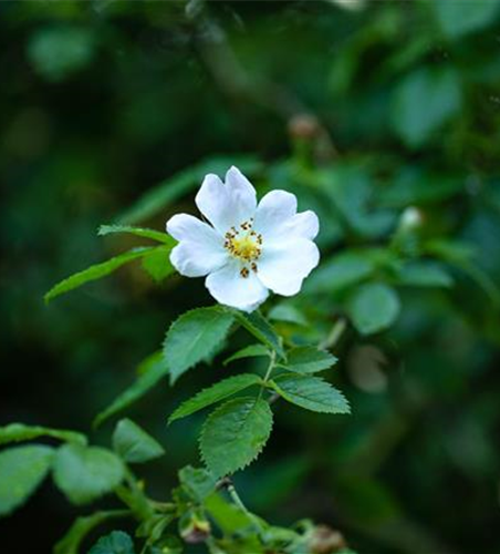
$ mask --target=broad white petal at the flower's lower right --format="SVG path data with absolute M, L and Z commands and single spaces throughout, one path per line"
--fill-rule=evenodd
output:
M 277 246 L 265 245 L 258 261 L 259 279 L 273 293 L 293 296 L 302 281 L 317 266 L 317 246 L 304 238 L 296 238 Z

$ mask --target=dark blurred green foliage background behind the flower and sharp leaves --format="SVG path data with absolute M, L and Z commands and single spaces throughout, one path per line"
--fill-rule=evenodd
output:
M 346 318 L 329 378 L 353 407 L 278 408 L 236 476 L 248 505 L 361 554 L 499 554 L 500 2 L 2 0 L 0 25 L 0 424 L 88 431 L 170 321 L 210 304 L 202 280 L 139 265 L 42 297 L 137 244 L 100 224 L 163 229 L 235 163 L 320 213 L 323 266 L 275 319 L 306 335 Z M 353 326 L 373 279 L 392 309 Z M 201 419 L 166 417 L 228 371 L 128 410 L 167 450 L 146 468 L 154 496 L 199 463 Z M 0 522 L 2 552 L 49 553 L 76 513 L 46 483 Z

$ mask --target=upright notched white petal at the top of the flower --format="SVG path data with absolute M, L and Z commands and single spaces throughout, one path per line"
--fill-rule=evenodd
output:
M 213 174 L 205 177 L 196 195 L 196 205 L 223 235 L 232 226 L 238 227 L 253 217 L 256 189 L 239 170 L 231 167 L 226 174 L 226 184 Z

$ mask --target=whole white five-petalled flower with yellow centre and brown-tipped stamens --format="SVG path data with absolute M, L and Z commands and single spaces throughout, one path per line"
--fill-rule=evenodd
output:
M 196 205 L 211 225 L 187 214 L 171 217 L 167 232 L 179 244 L 170 261 L 186 277 L 207 276 L 220 304 L 253 311 L 269 290 L 296 295 L 320 260 L 314 212 L 298 214 L 296 197 L 285 191 L 271 191 L 257 205 L 256 189 L 237 167 L 226 183 L 207 175 Z

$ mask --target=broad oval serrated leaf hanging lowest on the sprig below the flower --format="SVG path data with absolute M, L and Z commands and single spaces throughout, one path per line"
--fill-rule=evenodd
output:
M 216 478 L 251 463 L 271 434 L 272 412 L 261 398 L 229 400 L 205 422 L 201 456 Z

